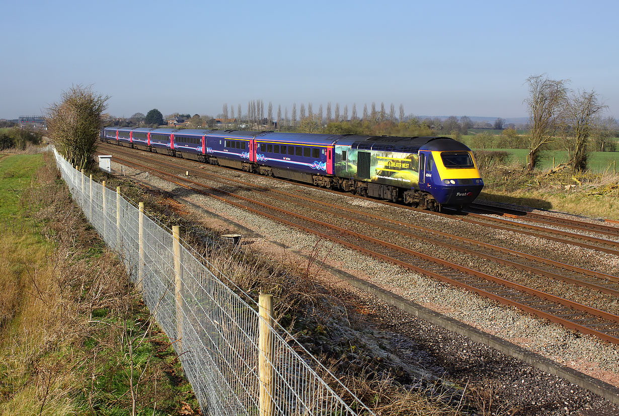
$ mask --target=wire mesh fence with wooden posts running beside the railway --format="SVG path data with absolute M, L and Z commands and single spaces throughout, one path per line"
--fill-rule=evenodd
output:
M 167 232 L 145 215 L 142 204 L 134 206 L 54 153 L 74 200 L 118 253 L 159 326 L 176 341 L 203 414 L 373 415 L 326 368 L 297 353 L 303 347 L 272 320 L 268 295 L 258 304 L 232 290 L 232 282 L 181 244 L 177 227 Z M 347 400 L 318 373 L 332 378 Z

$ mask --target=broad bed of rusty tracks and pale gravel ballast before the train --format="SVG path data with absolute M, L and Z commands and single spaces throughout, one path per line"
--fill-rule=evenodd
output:
M 619 385 L 617 345 L 600 341 L 619 340 L 616 223 L 600 232 L 599 222 L 586 219 L 574 226 L 495 213 L 435 214 L 115 145 L 100 149 L 125 163 L 134 179 L 180 192 L 270 240 L 313 251 L 319 261 Z

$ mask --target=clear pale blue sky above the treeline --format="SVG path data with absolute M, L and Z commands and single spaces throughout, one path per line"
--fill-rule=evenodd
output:
M 524 80 L 595 89 L 618 115 L 616 1 L 2 1 L 0 118 L 72 84 L 116 116 L 264 100 L 526 116 Z

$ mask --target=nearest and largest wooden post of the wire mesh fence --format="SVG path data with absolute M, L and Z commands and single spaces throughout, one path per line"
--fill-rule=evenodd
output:
M 258 299 L 260 321 L 258 324 L 258 375 L 260 378 L 259 416 L 274 415 L 273 380 L 273 295 L 261 294 Z

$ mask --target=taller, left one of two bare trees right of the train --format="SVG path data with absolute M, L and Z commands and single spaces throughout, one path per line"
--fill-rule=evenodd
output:
M 529 107 L 531 126 L 529 155 L 527 156 L 529 171 L 535 169 L 542 146 L 552 141 L 552 137 L 560 127 L 560 116 L 565 108 L 568 82 L 569 80 L 565 79 L 548 79 L 546 74 L 530 76 L 526 80 L 529 86 L 529 97 L 524 102 Z

